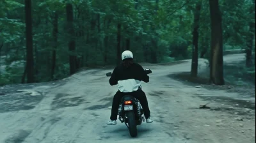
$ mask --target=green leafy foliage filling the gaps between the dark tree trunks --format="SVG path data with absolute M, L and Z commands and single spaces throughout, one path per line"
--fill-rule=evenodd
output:
M 56 45 L 54 80 L 67 77 L 69 56 L 76 56 L 81 67 L 116 63 L 117 24 L 122 25 L 121 49 L 125 39 L 138 62 L 166 63 L 191 57 L 193 13 L 197 1 L 84 1 L 35 0 L 33 7 L 33 46 L 36 80 L 51 80 L 52 50 Z M 70 35 L 67 34 L 66 4 L 74 10 L 76 51 L 68 51 Z M 252 1 L 220 1 L 223 13 L 223 36 L 226 49 L 244 47 L 250 33 L 249 23 L 254 19 Z M 58 41 L 54 41 L 54 15 L 58 15 Z M 255 15 L 255 13 L 254 13 Z M 20 82 L 24 64 L 10 66 L 14 61 L 26 59 L 24 1 L 2 0 L 0 4 L 0 56 L 7 56 L 6 73 L 1 83 Z M 211 45 L 209 3 L 202 1 L 200 10 L 199 52 Z

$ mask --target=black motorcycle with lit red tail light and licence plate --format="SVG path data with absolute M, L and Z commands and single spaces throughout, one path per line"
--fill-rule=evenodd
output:
M 147 74 L 152 73 L 150 69 L 145 69 Z M 106 73 L 107 77 L 111 77 L 112 73 Z M 119 105 L 118 116 L 121 123 L 125 123 L 131 137 L 138 135 L 137 125 L 145 122 L 145 116 L 140 101 L 133 96 L 126 94 Z

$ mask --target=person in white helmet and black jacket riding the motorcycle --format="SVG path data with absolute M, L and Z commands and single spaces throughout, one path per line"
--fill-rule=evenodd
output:
M 108 125 L 116 124 L 119 103 L 125 93 L 129 93 L 131 96 L 134 96 L 134 98 L 140 100 L 146 117 L 146 122 L 153 122 L 153 120 L 150 119 L 150 110 L 148 108 L 146 94 L 141 89 L 141 80 L 146 83 L 149 82 L 147 73 L 140 64 L 133 62 L 132 52 L 125 50 L 122 53 L 122 64 L 116 66 L 109 79 L 109 84 L 111 86 L 118 84 L 119 90 L 113 98 L 110 121 L 107 123 Z

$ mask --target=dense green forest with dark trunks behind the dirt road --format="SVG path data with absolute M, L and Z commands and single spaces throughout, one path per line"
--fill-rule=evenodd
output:
M 209 60 L 210 81 L 225 84 L 223 51 L 244 49 L 255 76 L 254 0 L 1 0 L 0 86 L 48 82 L 81 68 Z

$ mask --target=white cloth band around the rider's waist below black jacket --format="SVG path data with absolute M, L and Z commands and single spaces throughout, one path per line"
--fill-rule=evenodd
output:
M 133 91 L 137 91 L 140 86 L 141 86 L 140 80 L 126 79 L 126 80 L 118 81 L 118 89 L 122 93 L 131 93 Z

